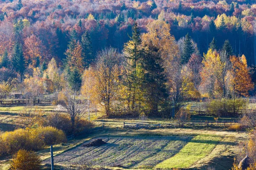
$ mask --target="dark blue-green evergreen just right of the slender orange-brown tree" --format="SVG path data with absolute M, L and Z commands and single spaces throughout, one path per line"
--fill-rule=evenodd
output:
M 84 59 L 85 67 L 89 67 L 89 64 L 93 61 L 93 47 L 88 32 L 85 32 L 81 37 L 82 57 Z

